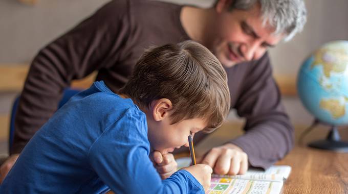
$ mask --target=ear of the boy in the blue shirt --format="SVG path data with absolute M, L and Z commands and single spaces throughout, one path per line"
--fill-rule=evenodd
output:
M 172 104 L 169 99 L 159 99 L 154 102 L 152 108 L 152 114 L 154 120 L 161 121 L 165 117 L 169 116 L 169 112 L 172 109 Z

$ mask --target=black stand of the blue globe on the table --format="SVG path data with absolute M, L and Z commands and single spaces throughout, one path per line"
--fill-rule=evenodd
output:
M 318 124 L 313 123 L 312 128 Z M 311 148 L 330 150 L 334 152 L 348 152 L 348 142 L 340 141 L 340 136 L 336 126 L 332 126 L 326 139 L 313 141 L 308 144 Z

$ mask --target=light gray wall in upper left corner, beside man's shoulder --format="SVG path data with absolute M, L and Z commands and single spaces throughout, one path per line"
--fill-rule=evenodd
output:
M 43 47 L 108 0 L 0 1 L 0 64 L 29 62 Z

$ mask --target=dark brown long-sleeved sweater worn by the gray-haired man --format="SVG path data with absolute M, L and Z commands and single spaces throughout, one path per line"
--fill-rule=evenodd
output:
M 98 70 L 97 80 L 115 91 L 145 48 L 189 39 L 181 26 L 181 8 L 155 1 L 112 1 L 42 48 L 21 93 L 11 153 L 20 153 L 56 111 L 62 90 L 73 79 Z M 269 57 L 266 53 L 226 71 L 231 108 L 247 120 L 246 133 L 231 142 L 248 154 L 251 165 L 268 167 L 293 146 L 293 128 L 280 103 Z

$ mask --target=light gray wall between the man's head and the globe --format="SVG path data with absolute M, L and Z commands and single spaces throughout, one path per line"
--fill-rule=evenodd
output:
M 325 42 L 348 40 L 348 1 L 307 0 L 305 29 L 270 51 L 274 72 L 296 75 L 302 61 Z

